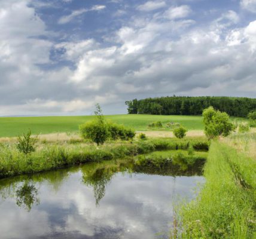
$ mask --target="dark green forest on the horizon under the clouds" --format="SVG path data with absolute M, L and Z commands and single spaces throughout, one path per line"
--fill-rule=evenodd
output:
M 226 96 L 167 96 L 126 101 L 128 114 L 201 115 L 203 109 L 213 106 L 234 117 L 247 117 L 256 109 L 256 99 Z

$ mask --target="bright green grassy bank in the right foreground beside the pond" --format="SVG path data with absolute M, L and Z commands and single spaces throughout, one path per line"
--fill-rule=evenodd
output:
M 223 142 L 212 142 L 205 164 L 206 183 L 196 200 L 178 211 L 179 237 L 255 238 L 255 175 L 254 158 Z M 176 229 L 173 238 L 178 237 Z

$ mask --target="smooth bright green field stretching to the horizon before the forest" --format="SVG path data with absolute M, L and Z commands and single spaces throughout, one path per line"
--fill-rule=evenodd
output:
M 93 119 L 94 116 L 69 116 L 69 117 L 2 117 L 0 118 L 0 137 L 17 136 L 29 128 L 33 134 L 47 134 L 57 132 L 74 132 L 78 125 Z M 202 117 L 182 115 L 106 115 L 118 124 L 124 124 L 135 130 L 152 130 L 148 124 L 161 121 L 179 122 L 188 130 L 202 130 Z

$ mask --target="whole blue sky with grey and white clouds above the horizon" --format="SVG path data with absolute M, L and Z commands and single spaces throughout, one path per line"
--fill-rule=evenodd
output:
M 256 0 L 0 0 L 0 115 L 256 97 Z

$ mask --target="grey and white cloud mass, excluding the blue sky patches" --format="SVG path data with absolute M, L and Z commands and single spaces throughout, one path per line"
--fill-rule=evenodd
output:
M 256 21 L 238 28 L 227 11 L 198 27 L 188 5 L 153 2 L 157 13 L 138 11 L 106 47 L 42 39 L 54 33 L 29 0 L 0 1 L 0 114 L 90 114 L 96 102 L 123 113 L 126 100 L 167 94 L 255 97 Z M 54 65 L 53 50 L 72 67 L 42 67 Z

